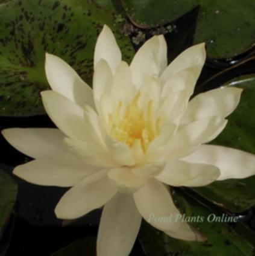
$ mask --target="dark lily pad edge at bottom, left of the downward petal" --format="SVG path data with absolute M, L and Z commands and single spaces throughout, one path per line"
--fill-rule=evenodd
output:
M 96 255 L 96 237 L 84 237 L 80 240 L 71 243 L 52 256 L 75 256 L 75 255 Z

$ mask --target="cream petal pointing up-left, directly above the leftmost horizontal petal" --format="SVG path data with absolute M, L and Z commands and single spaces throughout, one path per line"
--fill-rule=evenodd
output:
M 43 105 L 51 120 L 67 136 L 86 140 L 83 109 L 54 91 L 41 92 Z

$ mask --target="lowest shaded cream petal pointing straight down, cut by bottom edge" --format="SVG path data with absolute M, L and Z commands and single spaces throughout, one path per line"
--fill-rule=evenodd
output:
M 141 220 L 133 197 L 117 193 L 102 210 L 96 246 L 97 255 L 129 255 L 140 229 Z

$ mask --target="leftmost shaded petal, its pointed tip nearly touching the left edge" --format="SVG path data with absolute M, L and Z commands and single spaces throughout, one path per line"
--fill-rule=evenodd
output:
M 66 152 L 64 134 L 51 128 L 11 128 L 2 130 L 4 138 L 15 149 L 31 158 L 42 158 Z

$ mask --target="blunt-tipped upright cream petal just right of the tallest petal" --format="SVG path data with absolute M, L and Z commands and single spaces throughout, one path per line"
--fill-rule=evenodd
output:
M 164 37 L 154 36 L 147 40 L 134 56 L 130 68 L 133 83 L 136 88 L 142 85 L 145 77 L 149 75 L 160 75 L 165 69 L 166 42 Z

